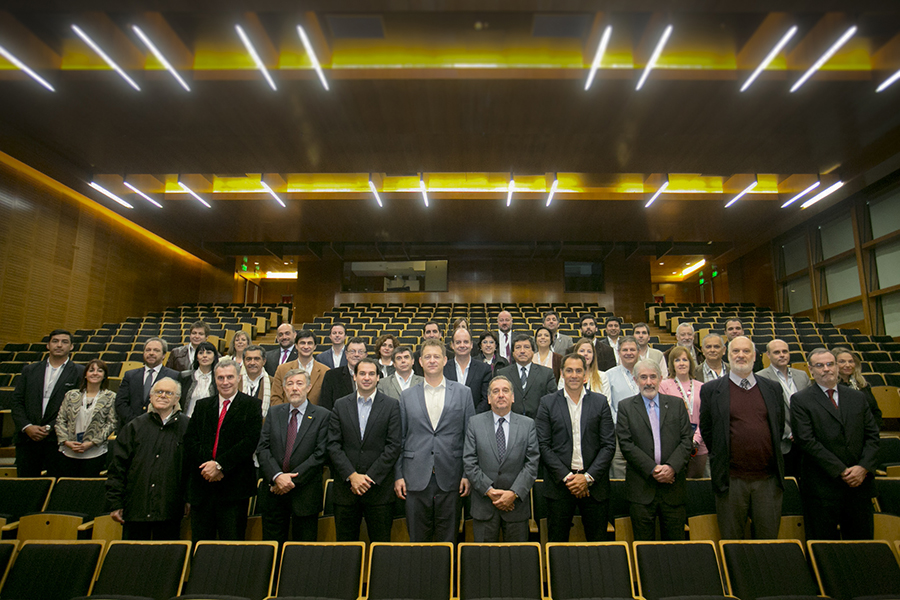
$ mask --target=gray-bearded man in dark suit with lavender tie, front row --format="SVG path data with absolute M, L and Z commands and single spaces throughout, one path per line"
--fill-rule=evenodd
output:
M 638 361 L 634 373 L 641 393 L 619 403 L 616 421 L 634 539 L 656 539 L 658 517 L 663 540 L 683 540 L 691 421 L 681 398 L 659 393 L 659 363 Z

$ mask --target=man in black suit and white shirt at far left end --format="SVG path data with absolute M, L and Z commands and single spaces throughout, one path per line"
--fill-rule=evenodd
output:
M 59 444 L 56 441 L 56 415 L 63 396 L 78 389 L 84 367 L 69 360 L 72 334 L 54 329 L 47 340 L 46 359 L 27 365 L 16 379 L 12 409 L 16 431 L 16 473 L 19 477 L 40 477 L 47 471 L 57 475 Z

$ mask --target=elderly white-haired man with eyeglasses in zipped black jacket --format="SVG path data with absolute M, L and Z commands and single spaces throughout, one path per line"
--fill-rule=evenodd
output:
M 181 413 L 181 384 L 153 384 L 147 412 L 119 431 L 106 479 L 110 516 L 125 540 L 177 540 L 185 514 L 182 439 L 189 418 Z

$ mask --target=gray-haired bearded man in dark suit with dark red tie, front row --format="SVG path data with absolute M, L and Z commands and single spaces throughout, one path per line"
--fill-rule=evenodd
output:
M 287 541 L 292 524 L 294 541 L 314 542 L 318 536 L 331 413 L 307 400 L 309 388 L 306 371 L 285 374 L 287 402 L 269 409 L 256 449 L 269 483 L 259 492 L 263 538 L 279 543 Z

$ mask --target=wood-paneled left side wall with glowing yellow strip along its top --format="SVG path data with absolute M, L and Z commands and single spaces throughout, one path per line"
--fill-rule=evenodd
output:
M 0 348 L 185 302 L 229 302 L 234 275 L 0 157 Z

